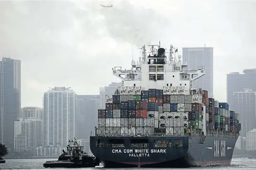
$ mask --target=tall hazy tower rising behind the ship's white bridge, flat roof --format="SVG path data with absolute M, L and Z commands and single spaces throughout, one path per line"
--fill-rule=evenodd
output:
M 205 76 L 196 79 L 193 84 L 197 88 L 207 90 L 209 98 L 213 98 L 213 48 L 182 48 L 182 60 L 183 63 L 187 62 L 189 70 L 204 67 Z

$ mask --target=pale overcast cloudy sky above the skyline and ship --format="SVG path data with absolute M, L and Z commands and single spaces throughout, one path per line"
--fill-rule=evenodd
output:
M 99 5 L 113 5 L 103 8 Z M 214 97 L 226 101 L 226 74 L 256 68 L 256 1 L 0 1 L 0 56 L 22 61 L 22 107 L 42 106 L 48 87 L 79 95 L 120 79 L 132 45 L 213 47 Z

